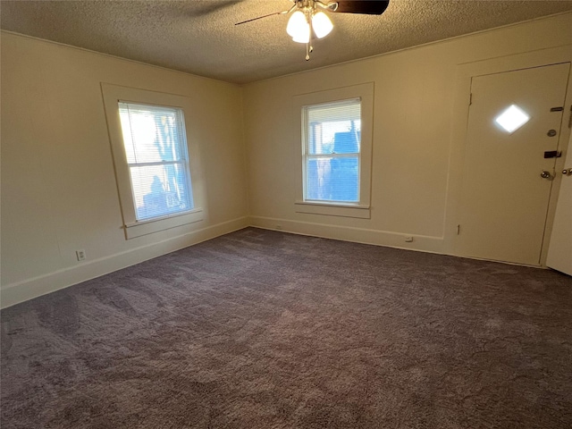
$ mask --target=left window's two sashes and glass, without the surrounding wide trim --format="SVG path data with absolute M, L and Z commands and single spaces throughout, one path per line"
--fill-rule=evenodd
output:
M 193 208 L 181 109 L 119 102 L 137 221 Z

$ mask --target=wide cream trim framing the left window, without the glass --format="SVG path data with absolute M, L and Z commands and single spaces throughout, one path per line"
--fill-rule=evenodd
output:
M 104 98 L 107 129 L 109 131 L 109 139 L 114 157 L 115 177 L 122 209 L 122 228 L 125 231 L 125 238 L 130 240 L 157 231 L 164 231 L 188 223 L 196 223 L 204 220 L 204 211 L 199 206 L 202 198 L 200 198 L 200 195 L 195 192 L 196 189 L 194 186 L 192 193 L 195 207 L 193 209 L 187 212 L 175 213 L 159 218 L 145 219 L 141 221 L 137 220 L 131 189 L 129 165 L 125 156 L 125 148 L 123 147 L 122 126 L 119 115 L 119 101 L 139 103 L 143 105 L 177 107 L 181 108 L 183 111 L 185 118 L 184 128 L 186 130 L 191 130 L 192 125 L 189 123 L 191 112 L 188 112 L 190 102 L 189 98 L 173 94 L 147 91 L 145 89 L 111 85 L 108 83 L 102 83 L 101 89 Z M 198 174 L 199 165 L 196 156 L 197 151 L 195 150 L 192 139 L 189 139 L 189 135 L 187 135 L 187 150 L 189 153 L 189 169 L 192 186 L 192 184 L 196 182 L 195 179 Z

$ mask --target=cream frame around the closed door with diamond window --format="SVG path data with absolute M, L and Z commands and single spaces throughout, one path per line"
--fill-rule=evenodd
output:
M 557 63 L 572 63 L 572 45 L 559 46 L 524 54 L 503 56 L 474 63 L 458 65 L 455 99 L 453 103 L 452 126 L 449 152 L 449 176 L 447 186 L 447 203 L 444 221 L 445 253 L 457 255 L 457 225 L 459 222 L 461 184 L 463 180 L 463 164 L 465 160 L 465 145 L 467 142 L 468 111 L 471 92 L 471 80 L 476 76 L 496 74 L 504 71 L 515 71 Z M 568 77 L 568 90 L 564 102 L 564 116 L 559 130 L 559 148 L 562 156 L 556 160 L 556 171 L 561 170 L 566 157 L 566 149 L 570 129 L 568 118 L 572 105 L 572 73 Z M 557 174 L 552 183 L 551 198 L 548 206 L 548 217 L 544 231 L 543 248 L 541 250 L 541 265 L 546 265 L 546 254 L 552 230 L 552 220 L 556 211 L 556 202 L 562 181 L 561 174 Z

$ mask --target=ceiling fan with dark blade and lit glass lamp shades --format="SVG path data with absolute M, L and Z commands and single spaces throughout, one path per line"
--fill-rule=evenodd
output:
M 381 15 L 390 4 L 389 0 L 342 0 L 338 2 L 329 0 L 290 0 L 294 4 L 290 9 L 282 12 L 268 13 L 247 21 L 237 22 L 234 25 L 261 20 L 273 15 L 290 15 L 286 32 L 292 40 L 306 44 L 306 60 L 310 59 L 312 47 L 312 33 L 316 38 L 324 38 L 333 29 L 332 21 L 324 12 L 335 13 L 362 13 L 366 15 Z

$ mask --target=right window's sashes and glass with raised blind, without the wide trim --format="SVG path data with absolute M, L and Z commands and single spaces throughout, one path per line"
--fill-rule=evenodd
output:
M 361 100 L 303 108 L 304 200 L 359 202 Z

